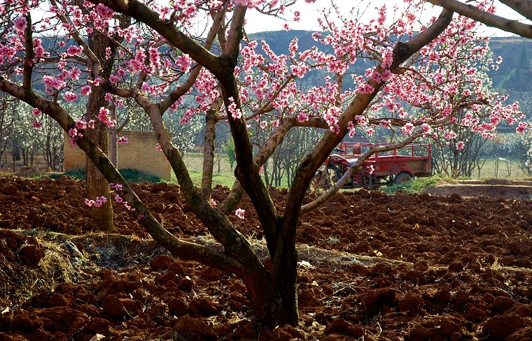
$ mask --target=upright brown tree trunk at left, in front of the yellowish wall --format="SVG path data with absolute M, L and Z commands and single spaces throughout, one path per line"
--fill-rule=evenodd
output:
M 111 46 L 111 57 L 106 59 L 105 49 Z M 113 66 L 113 60 L 116 53 L 116 48 L 113 48 L 113 42 L 110 38 L 103 34 L 95 33 L 89 35 L 89 48 L 94 52 L 94 55 L 102 61 L 102 70 L 100 75 L 104 78 L 109 78 Z M 104 99 L 105 90 L 100 85 L 99 87 L 92 87 L 92 92 L 87 101 L 87 119 L 94 119 L 97 121 L 94 124 L 94 129 L 87 129 L 87 135 L 94 143 L 102 150 L 102 152 L 109 154 L 109 131 L 103 122 L 97 119 L 99 109 L 107 106 L 107 101 Z M 109 184 L 105 180 L 104 175 L 92 164 L 88 157 L 85 158 L 85 170 L 87 175 L 86 186 L 87 196 L 94 199 L 99 196 L 105 196 L 107 202 L 100 208 L 92 206 L 90 213 L 92 222 L 98 226 L 102 231 L 113 230 L 113 207 L 111 206 L 111 196 L 109 195 Z

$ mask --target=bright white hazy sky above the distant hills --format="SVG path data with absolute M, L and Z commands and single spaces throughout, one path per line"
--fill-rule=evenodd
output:
M 317 19 L 321 17 L 321 8 L 330 7 L 331 0 L 318 0 L 316 3 L 304 3 L 304 1 L 297 1 L 294 6 L 290 6 L 285 16 L 292 18 L 291 14 L 294 10 L 299 10 L 301 13 L 300 22 L 287 22 L 290 29 L 305 29 L 305 30 L 318 30 Z M 333 1 L 340 9 L 349 10 L 351 7 L 356 6 L 360 1 L 358 0 L 335 0 Z M 367 3 L 371 2 L 370 6 L 367 6 Z M 376 6 L 381 6 L 383 0 L 378 1 L 363 1 L 363 8 L 367 7 L 367 13 L 374 11 L 373 8 Z M 397 1 L 386 1 L 386 6 L 391 8 L 391 6 L 398 3 L 398 6 L 403 3 L 402 0 Z M 507 17 L 512 20 L 523 20 L 523 17 L 517 15 L 511 8 L 503 5 L 502 3 L 497 3 L 497 13 L 498 15 Z M 428 9 L 432 7 L 428 5 Z M 431 12 L 431 15 L 437 15 L 440 13 L 441 8 L 434 6 Z M 260 31 L 276 31 L 282 29 L 284 22 L 282 20 L 276 20 L 269 17 L 265 18 L 264 15 L 260 15 L 256 10 L 250 10 L 246 15 L 246 31 L 248 33 L 260 32 Z M 485 27 L 486 33 L 493 36 L 511 36 L 505 31 L 500 31 L 499 29 L 493 29 L 491 27 Z

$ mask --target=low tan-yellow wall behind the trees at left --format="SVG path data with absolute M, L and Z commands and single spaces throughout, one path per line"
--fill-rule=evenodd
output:
M 172 168 L 165 154 L 155 149 L 157 136 L 153 131 L 121 131 L 130 143 L 118 145 L 118 168 L 131 168 L 139 172 L 170 180 Z M 85 169 L 85 153 L 72 145 L 64 135 L 64 170 Z

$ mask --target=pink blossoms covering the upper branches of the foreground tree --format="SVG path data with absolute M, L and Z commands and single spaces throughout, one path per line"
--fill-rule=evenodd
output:
M 270 14 L 286 20 L 300 20 L 300 12 L 285 8 L 287 2 L 290 1 L 232 1 L 236 6 L 258 8 L 262 13 L 271 11 Z M 176 0 L 172 5 L 150 3 L 149 6 L 160 20 L 172 21 L 171 24 L 187 31 L 193 27 L 194 20 L 200 20 L 200 13 L 207 15 L 209 9 L 217 10 L 224 4 L 220 0 Z M 509 124 L 519 133 L 530 128 L 522 122 L 518 103 L 506 103 L 507 96 L 489 90 L 486 85 L 482 65 L 498 66 L 502 59 L 488 60 L 487 39 L 475 33 L 477 24 L 473 20 L 455 17 L 443 34 L 400 68 L 391 70 L 395 65 L 396 42 L 408 41 L 436 18 L 420 17 L 425 6 L 421 1 L 405 1 L 400 8 L 384 1 L 374 2 L 372 6 L 375 4 L 376 15 L 366 17 L 355 11 L 323 12 L 318 32 L 311 35 L 318 44 L 307 50 L 300 50 L 297 38 L 290 41 L 286 52 L 275 52 L 265 41 L 242 42 L 234 73 L 238 98 L 230 99 L 220 115 L 225 113 L 230 119 L 246 120 L 253 117 L 256 122 L 253 126 L 265 132 L 270 131 L 268 127 L 274 130 L 285 124 L 286 119 L 300 125 L 316 119 L 325 122 L 335 133 L 347 129 L 349 136 L 372 135 L 377 129 L 387 129 L 405 136 L 419 134 L 423 138 L 447 140 L 457 148 L 463 141 L 454 141 L 456 129 L 448 127 L 449 124 L 468 126 L 485 138 L 495 136 L 498 124 Z M 0 43 L 0 64 L 13 67 L 14 75 L 22 73 L 25 61 L 20 56 L 25 50 L 22 36 L 27 27 L 25 15 L 35 6 L 36 3 L 28 4 L 15 13 L 9 38 Z M 229 6 L 228 13 L 232 13 L 232 5 Z M 477 6 L 493 10 L 486 0 L 478 1 Z M 70 20 L 64 23 L 59 15 L 68 15 Z M 36 27 L 55 32 L 57 36 L 65 34 L 64 38 L 57 38 L 55 50 L 45 50 L 41 38 L 34 38 L 36 57 L 29 61 L 39 64 L 47 57 L 57 57 L 57 73 L 43 76 L 48 94 L 74 102 L 78 96 L 88 96 L 92 87 L 105 82 L 113 87 L 113 94 L 106 94 L 106 100 L 121 108 L 125 99 L 118 95 L 118 87 L 125 87 L 125 96 L 130 99 L 139 87 L 142 91 L 139 96 L 157 102 L 168 99 L 170 92 L 186 84 L 188 76 L 193 74 L 190 73 L 195 64 L 193 58 L 166 48 L 167 42 L 155 31 L 141 24 L 120 24 L 113 17 L 113 10 L 101 3 L 95 6 L 89 1 L 59 2 L 51 6 Z M 111 48 L 106 49 L 105 58 L 116 55 L 116 60 L 111 76 L 105 80 L 98 78 L 102 76 L 92 70 L 89 58 L 85 58 L 89 51 L 72 40 L 76 33 L 86 36 L 94 30 L 124 41 L 116 54 L 111 53 Z M 367 69 L 358 73 L 360 64 Z M 305 86 L 308 82 L 299 80 L 309 77 L 311 71 L 323 77 L 312 86 Z M 93 77 L 96 79 L 90 80 Z M 218 80 L 207 68 L 202 68 L 193 82 L 186 94 L 169 105 L 170 110 L 180 112 L 181 124 L 187 124 L 195 115 L 204 115 L 222 95 Z M 351 83 L 352 86 L 347 85 Z M 371 103 L 370 108 L 363 113 L 352 113 L 349 103 L 356 99 Z M 263 108 L 267 112 L 259 113 Z M 350 116 L 341 119 L 346 114 Z M 106 108 L 99 110 L 98 118 L 108 126 L 116 124 Z M 35 122 L 37 126 L 41 124 Z M 69 132 L 74 143 L 88 124 L 76 122 L 75 131 Z M 127 138 L 121 137 L 119 141 L 126 142 Z

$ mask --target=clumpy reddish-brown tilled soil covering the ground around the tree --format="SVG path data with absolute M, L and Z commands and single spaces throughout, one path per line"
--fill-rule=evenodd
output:
M 172 233 L 213 242 L 178 187 L 134 188 Z M 265 331 L 237 278 L 168 256 L 118 206 L 101 233 L 83 198 L 66 177 L 0 179 L 0 340 L 531 340 L 532 201 L 337 194 L 301 219 L 301 325 Z

